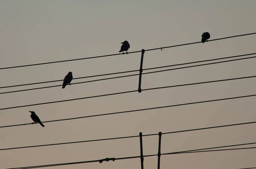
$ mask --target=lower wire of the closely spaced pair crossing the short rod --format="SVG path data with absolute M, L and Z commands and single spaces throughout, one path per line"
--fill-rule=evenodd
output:
M 201 64 L 201 65 L 192 65 L 192 66 L 186 66 L 186 67 L 181 67 L 181 68 L 158 70 L 158 71 L 147 72 L 147 73 L 142 73 L 142 74 L 159 73 L 159 72 L 163 72 L 163 71 L 170 71 L 170 70 L 177 70 L 177 69 L 184 69 L 184 68 L 193 68 L 193 67 L 198 67 L 198 66 L 213 65 L 213 64 L 218 64 L 218 63 L 231 62 L 231 61 L 237 61 L 237 60 L 243 60 L 243 59 L 252 59 L 252 58 L 256 58 L 256 56 L 247 57 L 247 58 L 240 58 L 240 59 L 226 60 L 226 61 L 221 61 L 221 62 L 213 62 L 213 63 L 207 63 L 207 64 Z M 132 75 L 126 75 L 126 76 L 116 76 L 116 77 L 105 78 L 105 79 L 97 79 L 97 80 L 90 80 L 90 81 L 85 81 L 85 82 L 77 82 L 77 83 L 72 83 L 71 85 L 77 85 L 77 84 L 88 83 L 88 82 L 103 81 L 103 80 L 109 80 L 109 79 L 118 79 L 118 78 L 131 77 L 131 76 L 137 76 L 137 75 L 140 75 L 140 74 L 132 74 Z M 9 92 L 2 92 L 0 94 L 16 93 L 16 92 L 23 92 L 23 91 L 29 91 L 29 90 L 38 90 L 38 89 L 45 89 L 45 88 L 51 88 L 51 87 L 60 87 L 60 86 L 62 86 L 62 85 L 37 87 L 37 88 L 23 89 L 23 90 L 13 90 L 13 91 L 9 91 Z

